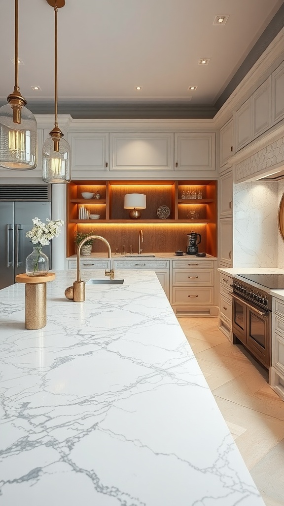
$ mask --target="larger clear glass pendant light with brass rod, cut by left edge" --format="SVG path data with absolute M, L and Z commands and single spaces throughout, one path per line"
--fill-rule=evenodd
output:
M 30 171 L 36 167 L 36 120 L 19 88 L 18 0 L 15 0 L 15 86 L 0 108 L 0 166 L 13 171 Z

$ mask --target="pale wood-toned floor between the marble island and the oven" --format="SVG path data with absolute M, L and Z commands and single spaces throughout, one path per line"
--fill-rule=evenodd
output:
M 266 506 L 283 506 L 284 402 L 244 348 L 218 329 L 217 318 L 178 321 Z

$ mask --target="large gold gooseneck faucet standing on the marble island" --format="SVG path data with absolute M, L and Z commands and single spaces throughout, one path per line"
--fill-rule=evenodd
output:
M 90 234 L 84 239 L 81 240 L 81 242 L 78 245 L 77 249 L 77 279 L 74 281 L 73 286 L 68 286 L 65 290 L 65 297 L 69 299 L 70 301 L 74 302 L 84 302 L 86 300 L 86 290 L 85 290 L 85 281 L 81 281 L 81 270 L 80 270 L 80 251 L 82 245 L 88 241 L 89 239 L 99 239 L 103 241 L 107 247 L 108 247 L 108 258 L 110 259 L 110 270 L 105 270 L 105 276 L 110 276 L 110 279 L 114 278 L 114 268 L 113 268 L 113 260 L 112 260 L 112 254 L 111 254 L 111 247 L 110 243 L 102 237 L 101 235 L 93 235 Z

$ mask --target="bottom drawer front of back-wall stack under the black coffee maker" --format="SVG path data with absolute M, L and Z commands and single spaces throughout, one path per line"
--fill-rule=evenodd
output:
M 173 286 L 172 304 L 187 304 L 200 306 L 212 305 L 214 301 L 213 286 L 193 286 L 190 288 Z

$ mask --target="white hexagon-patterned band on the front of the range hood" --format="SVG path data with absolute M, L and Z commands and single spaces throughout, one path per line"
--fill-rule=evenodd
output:
M 241 181 L 258 172 L 274 168 L 284 162 L 284 137 L 268 144 L 252 156 L 236 164 L 235 180 Z

